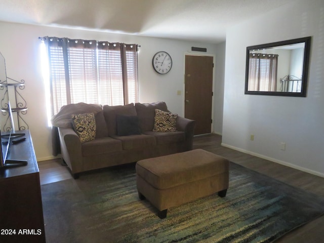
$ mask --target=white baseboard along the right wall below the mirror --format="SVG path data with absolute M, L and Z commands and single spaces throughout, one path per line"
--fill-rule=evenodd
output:
M 243 153 L 251 154 L 253 156 L 272 161 L 274 163 L 277 163 L 277 164 L 280 164 L 280 165 L 283 165 L 283 166 L 288 166 L 288 167 L 294 168 L 296 170 L 303 171 L 303 172 L 306 172 L 306 173 L 309 173 L 309 174 L 324 178 L 324 174 L 319 173 L 317 171 L 313 171 L 313 170 L 310 170 L 310 169 L 307 169 L 307 168 L 304 168 L 304 167 L 301 167 L 301 166 L 296 166 L 294 164 L 291 164 L 291 163 L 288 163 L 288 162 L 285 162 L 285 161 L 282 161 L 282 160 L 279 160 L 279 159 L 276 159 L 276 158 L 271 158 L 271 157 L 268 157 L 268 156 L 265 156 L 265 155 L 262 155 L 262 154 L 259 154 L 259 153 L 251 152 L 249 150 L 237 148 L 237 147 L 234 147 L 232 145 L 228 145 L 226 143 L 221 143 L 221 145 L 224 146 L 224 147 L 227 147 L 227 148 L 231 148 L 231 149 L 243 152 Z

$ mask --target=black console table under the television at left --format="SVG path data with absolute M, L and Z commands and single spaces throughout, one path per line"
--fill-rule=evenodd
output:
M 46 242 L 41 184 L 28 130 L 26 140 L 12 144 L 8 159 L 27 165 L 0 170 L 0 242 Z

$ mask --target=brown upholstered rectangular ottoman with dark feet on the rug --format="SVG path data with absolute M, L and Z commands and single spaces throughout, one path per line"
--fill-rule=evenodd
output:
M 140 199 L 147 198 L 162 219 L 167 211 L 188 201 L 228 188 L 229 161 L 203 149 L 143 159 L 136 164 Z

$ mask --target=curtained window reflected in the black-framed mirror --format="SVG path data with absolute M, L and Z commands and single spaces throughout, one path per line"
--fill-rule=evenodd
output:
M 250 53 L 249 91 L 277 91 L 278 55 Z

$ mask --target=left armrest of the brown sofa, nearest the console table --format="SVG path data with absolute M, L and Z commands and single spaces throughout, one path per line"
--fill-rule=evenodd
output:
M 61 153 L 72 175 L 83 171 L 81 141 L 72 128 L 58 128 Z

